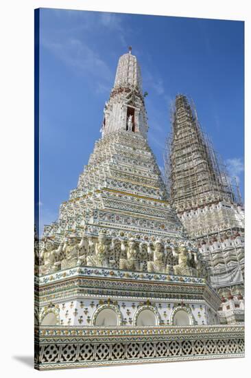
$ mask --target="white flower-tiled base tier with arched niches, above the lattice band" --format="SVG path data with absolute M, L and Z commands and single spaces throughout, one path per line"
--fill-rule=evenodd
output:
M 42 326 L 219 324 L 222 303 L 204 278 L 96 267 L 36 277 L 35 289 Z

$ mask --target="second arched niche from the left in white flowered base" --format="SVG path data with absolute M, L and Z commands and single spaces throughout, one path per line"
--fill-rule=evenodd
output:
M 122 315 L 113 304 L 103 304 L 93 314 L 93 326 L 121 326 Z

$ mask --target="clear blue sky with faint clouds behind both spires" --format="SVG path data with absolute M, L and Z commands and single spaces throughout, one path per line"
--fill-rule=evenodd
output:
M 149 93 L 159 166 L 170 101 L 187 94 L 243 195 L 243 29 L 241 21 L 40 10 L 40 231 L 58 218 L 101 136 L 104 102 L 129 45 Z

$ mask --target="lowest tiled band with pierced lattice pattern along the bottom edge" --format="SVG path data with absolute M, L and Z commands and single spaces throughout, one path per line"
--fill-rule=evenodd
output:
M 40 327 L 35 334 L 35 367 L 40 370 L 244 356 L 244 329 L 238 325 Z

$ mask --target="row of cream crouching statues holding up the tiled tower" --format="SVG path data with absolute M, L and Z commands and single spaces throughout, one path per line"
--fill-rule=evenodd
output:
M 120 240 L 121 253 L 119 254 L 119 269 L 140 271 L 139 256 L 142 256 L 143 243 L 139 243 L 139 252 L 134 238 L 125 241 Z M 87 265 L 91 267 L 111 267 L 115 264 L 114 258 L 115 239 L 108 243 L 105 232 L 99 232 L 97 242 L 93 243 L 92 238 L 84 235 L 80 243 L 75 237 L 70 237 L 64 243 L 60 243 L 56 249 L 51 239 L 45 241 L 40 253 L 40 261 L 43 267 L 49 270 L 64 269 L 75 265 Z M 178 248 L 172 247 L 171 254 L 178 259 L 178 264 L 171 266 L 165 263 L 165 252 L 163 243 L 155 241 L 154 250 L 150 243 L 147 244 L 147 271 L 177 274 L 183 276 L 206 276 L 206 270 L 201 261 L 198 260 L 196 252 L 191 252 L 184 244 Z M 52 269 L 51 269 L 52 268 Z

